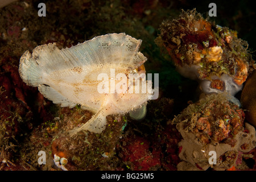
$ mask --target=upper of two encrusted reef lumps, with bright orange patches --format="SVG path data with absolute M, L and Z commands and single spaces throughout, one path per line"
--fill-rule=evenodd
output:
M 207 94 L 236 94 L 254 69 L 247 42 L 237 38 L 236 31 L 204 19 L 195 9 L 164 20 L 156 43 L 167 49 L 177 71 L 199 80 Z

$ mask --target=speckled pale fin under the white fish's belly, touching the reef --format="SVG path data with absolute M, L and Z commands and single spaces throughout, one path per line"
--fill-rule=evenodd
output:
M 75 135 L 79 131 L 88 130 L 93 133 L 102 133 L 106 128 L 106 114 L 104 113 L 104 109 L 101 109 L 96 114 L 93 115 L 92 118 L 89 119 L 88 122 L 84 123 L 81 127 L 77 129 L 73 129 L 70 131 L 71 135 Z

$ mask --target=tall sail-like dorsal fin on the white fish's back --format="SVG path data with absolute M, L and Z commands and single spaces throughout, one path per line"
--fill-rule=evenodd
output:
M 141 43 L 142 40 L 132 38 L 125 33 L 106 34 L 77 46 L 62 49 L 60 52 L 66 59 L 75 57 L 81 65 L 112 64 L 135 69 L 147 60 L 141 52 L 138 52 Z

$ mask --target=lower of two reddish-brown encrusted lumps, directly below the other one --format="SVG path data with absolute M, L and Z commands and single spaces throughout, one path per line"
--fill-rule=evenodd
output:
M 244 122 L 243 110 L 229 97 L 211 94 L 189 105 L 172 121 L 177 123 L 183 137 L 179 143 L 179 157 L 183 162 L 178 164 L 178 169 L 236 167 L 241 164 L 243 154 L 256 146 L 254 127 Z M 208 162 L 210 151 L 216 152 L 216 164 Z

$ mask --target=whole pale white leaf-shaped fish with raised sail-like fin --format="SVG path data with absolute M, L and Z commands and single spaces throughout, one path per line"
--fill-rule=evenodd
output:
M 29 51 L 24 52 L 20 58 L 19 74 L 27 85 L 38 86 L 40 93 L 53 103 L 71 108 L 80 104 L 82 109 L 94 113 L 88 122 L 72 130 L 72 135 L 81 130 L 101 133 L 107 115 L 125 114 L 140 108 L 153 94 L 152 82 L 144 79 L 146 93 L 98 92 L 98 85 L 102 83 L 98 75 L 101 73 L 106 73 L 110 82 L 113 79 L 110 69 L 114 69 L 115 75 L 124 73 L 127 76 L 147 60 L 138 52 L 141 42 L 121 33 L 97 36 L 61 50 L 55 43 L 45 44 L 36 47 L 32 55 Z M 117 82 L 115 80 L 115 84 Z

